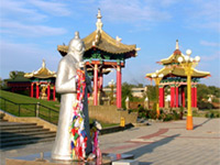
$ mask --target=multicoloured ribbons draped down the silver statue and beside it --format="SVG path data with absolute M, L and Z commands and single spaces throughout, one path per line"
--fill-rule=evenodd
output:
M 86 147 L 87 147 L 87 133 L 85 130 L 85 116 L 84 109 L 84 97 L 86 89 L 86 76 L 84 70 L 77 70 L 77 98 L 73 106 L 73 119 L 70 125 L 70 155 L 73 160 L 86 158 Z M 97 127 L 99 123 L 95 122 L 91 128 L 90 134 L 92 139 L 92 154 L 96 155 L 97 161 L 101 162 L 101 152 L 99 148 L 98 134 L 101 125 Z M 98 129 L 99 128 L 99 129 Z M 100 163 L 98 163 L 100 164 Z

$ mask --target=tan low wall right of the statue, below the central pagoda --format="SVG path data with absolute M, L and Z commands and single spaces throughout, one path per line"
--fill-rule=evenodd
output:
M 125 123 L 135 123 L 138 113 L 118 110 L 116 106 L 89 106 L 89 118 L 108 123 L 120 123 L 124 118 Z

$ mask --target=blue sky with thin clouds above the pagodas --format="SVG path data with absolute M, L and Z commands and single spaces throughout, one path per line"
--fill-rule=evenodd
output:
M 200 82 L 220 87 L 219 0 L 1 0 L 0 77 L 36 70 L 43 58 L 56 72 L 57 45 L 68 44 L 75 31 L 80 37 L 94 32 L 98 8 L 109 35 L 141 47 L 127 61 L 122 81 L 150 84 L 145 74 L 162 68 L 156 62 L 174 52 L 178 38 L 184 54 L 190 48 L 193 57 L 201 57 L 197 69 L 211 73 Z M 105 84 L 111 79 L 116 72 Z

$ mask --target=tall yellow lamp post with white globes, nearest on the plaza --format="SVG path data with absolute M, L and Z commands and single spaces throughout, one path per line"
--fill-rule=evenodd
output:
M 180 66 L 184 68 L 185 74 L 187 75 L 187 123 L 186 129 L 187 130 L 194 130 L 194 123 L 193 123 L 193 112 L 191 112 L 191 75 L 193 75 L 193 68 L 198 65 L 198 62 L 200 61 L 199 56 L 196 56 L 195 58 L 190 57 L 191 50 L 186 51 L 186 56 L 178 57 L 178 62 Z

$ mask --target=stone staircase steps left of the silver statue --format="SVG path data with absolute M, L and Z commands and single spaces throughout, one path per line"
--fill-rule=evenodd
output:
M 35 123 L 18 123 L 0 120 L 0 148 L 55 140 L 56 132 Z

